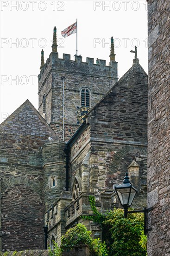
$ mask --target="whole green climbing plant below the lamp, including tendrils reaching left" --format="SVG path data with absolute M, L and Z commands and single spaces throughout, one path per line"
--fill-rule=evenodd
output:
M 89 196 L 89 203 L 95 216 L 85 216 L 84 219 L 101 224 L 110 256 L 146 256 L 143 213 L 128 214 L 128 218 L 124 218 L 123 209 L 114 209 L 101 215 L 95 207 L 94 196 Z

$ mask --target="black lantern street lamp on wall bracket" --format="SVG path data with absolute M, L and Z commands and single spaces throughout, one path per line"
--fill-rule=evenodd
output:
M 137 194 L 138 190 L 132 186 L 127 172 L 123 182 L 120 185 L 115 186 L 114 188 L 118 195 L 119 201 L 124 208 L 125 218 L 127 218 L 128 213 L 137 213 L 137 212 L 144 213 L 144 234 L 147 235 L 147 232 L 152 230 L 152 228 L 150 229 L 147 228 L 147 219 L 148 219 L 147 213 L 151 211 L 152 208 L 149 208 L 149 209 L 144 208 L 144 210 L 128 211 L 128 208 L 131 207 L 133 199 L 135 198 L 135 195 Z

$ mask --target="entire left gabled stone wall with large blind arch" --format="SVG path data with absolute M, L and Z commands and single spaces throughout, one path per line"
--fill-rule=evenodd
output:
M 41 148 L 49 136 L 56 138 L 29 101 L 0 125 L 1 249 L 44 247 Z

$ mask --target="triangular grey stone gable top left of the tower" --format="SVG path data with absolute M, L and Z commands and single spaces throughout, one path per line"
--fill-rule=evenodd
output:
M 57 140 L 56 133 L 29 100 L 26 100 L 0 124 L 0 130 L 10 134 L 48 135 Z

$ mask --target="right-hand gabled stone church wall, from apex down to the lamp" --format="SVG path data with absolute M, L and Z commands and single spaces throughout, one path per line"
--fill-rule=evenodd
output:
M 90 192 L 121 183 L 128 166 L 139 164 L 137 207 L 146 206 L 147 74 L 133 65 L 88 115 Z M 137 201 L 137 200 L 136 200 Z

